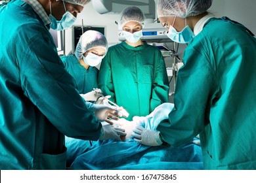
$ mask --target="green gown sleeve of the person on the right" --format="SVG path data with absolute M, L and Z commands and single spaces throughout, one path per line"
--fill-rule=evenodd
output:
M 184 54 L 174 95 L 175 107 L 157 127 L 163 141 L 179 146 L 191 141 L 209 124 L 209 106 L 214 105 L 214 88 L 218 88 L 213 68 L 200 52 L 191 49 Z

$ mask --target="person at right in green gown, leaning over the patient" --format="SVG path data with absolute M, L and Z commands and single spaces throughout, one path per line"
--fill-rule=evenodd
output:
M 150 141 L 179 146 L 200 133 L 205 169 L 256 169 L 256 39 L 244 25 L 208 14 L 211 3 L 158 1 L 168 36 L 188 46 L 175 107 Z M 137 133 L 147 144 L 149 132 Z

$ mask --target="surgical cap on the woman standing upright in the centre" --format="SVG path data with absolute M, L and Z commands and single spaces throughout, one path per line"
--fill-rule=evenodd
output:
M 128 22 L 138 22 L 142 27 L 144 27 L 146 17 L 144 16 L 142 10 L 138 7 L 127 7 L 125 8 L 119 17 L 118 28 L 122 29 L 123 25 Z

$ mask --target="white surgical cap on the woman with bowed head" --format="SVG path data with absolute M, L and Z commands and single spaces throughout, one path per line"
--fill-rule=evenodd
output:
M 108 50 L 108 41 L 106 37 L 102 35 L 102 33 L 98 31 L 89 30 L 81 35 L 77 46 L 75 48 L 75 57 L 77 59 L 83 58 L 83 54 L 91 48 L 95 48 L 96 46 L 102 46 L 106 48 L 106 52 Z

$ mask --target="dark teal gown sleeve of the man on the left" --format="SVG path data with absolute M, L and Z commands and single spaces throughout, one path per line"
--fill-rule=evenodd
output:
M 49 38 L 36 35 L 26 48 L 20 48 L 24 50 L 18 53 L 24 94 L 64 135 L 97 140 L 102 125 L 87 109 L 75 90 L 74 79 L 49 42 Z

